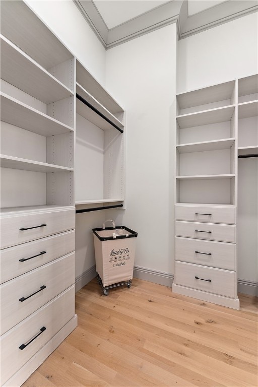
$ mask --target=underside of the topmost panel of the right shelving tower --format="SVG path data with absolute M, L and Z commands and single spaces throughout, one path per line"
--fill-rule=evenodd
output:
M 180 109 L 204 105 L 212 102 L 228 100 L 234 90 L 235 81 L 205 87 L 177 95 L 177 102 Z

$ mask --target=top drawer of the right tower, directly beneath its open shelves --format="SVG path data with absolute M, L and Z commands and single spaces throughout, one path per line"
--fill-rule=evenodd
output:
M 207 223 L 236 223 L 235 207 L 175 206 L 175 219 Z

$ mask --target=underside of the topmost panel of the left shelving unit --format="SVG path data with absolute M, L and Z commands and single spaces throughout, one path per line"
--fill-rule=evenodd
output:
M 44 69 L 73 58 L 25 2 L 1 3 L 1 32 Z

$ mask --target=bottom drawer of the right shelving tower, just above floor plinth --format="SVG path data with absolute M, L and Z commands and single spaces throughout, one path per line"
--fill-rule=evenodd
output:
M 229 270 L 175 262 L 175 284 L 225 297 L 236 297 L 236 273 Z

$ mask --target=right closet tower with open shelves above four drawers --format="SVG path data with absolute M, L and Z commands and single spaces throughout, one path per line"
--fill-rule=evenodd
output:
M 237 84 L 177 95 L 173 291 L 239 309 Z

